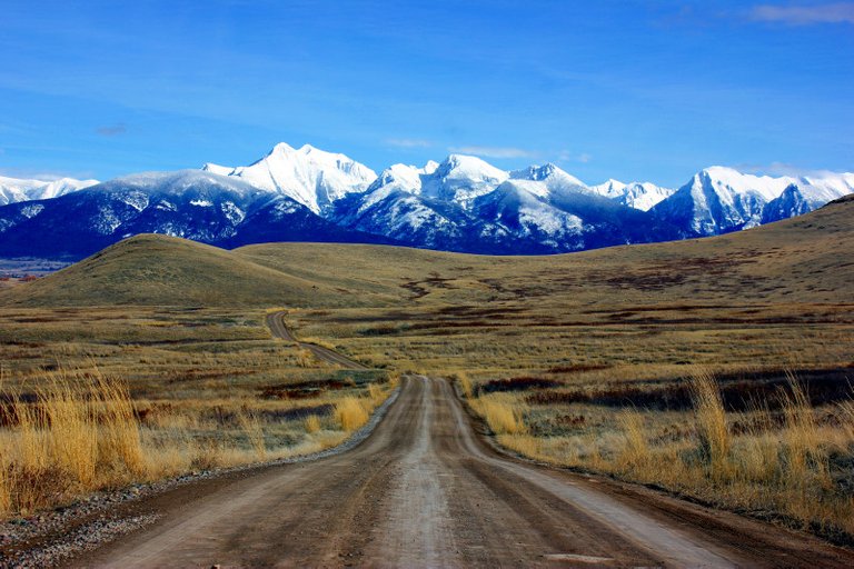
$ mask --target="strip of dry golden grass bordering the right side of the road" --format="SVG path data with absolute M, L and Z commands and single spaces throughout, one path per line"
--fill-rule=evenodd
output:
M 778 410 L 754 405 L 734 412 L 726 411 L 707 370 L 694 371 L 689 382 L 693 407 L 671 412 L 530 407 L 527 392 L 480 395 L 469 403 L 499 443 L 532 458 L 652 483 L 852 542 L 854 400 L 815 408 L 792 376 Z M 502 420 L 510 427 L 500 427 Z

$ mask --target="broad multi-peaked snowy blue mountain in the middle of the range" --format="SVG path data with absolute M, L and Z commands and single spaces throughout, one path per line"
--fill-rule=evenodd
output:
M 592 192 L 555 164 L 514 172 L 451 154 L 424 168 L 396 164 L 330 218 L 417 247 L 471 252 L 565 252 L 646 242 L 674 230 Z

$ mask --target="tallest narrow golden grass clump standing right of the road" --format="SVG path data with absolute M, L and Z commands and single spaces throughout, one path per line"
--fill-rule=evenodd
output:
M 724 479 L 729 476 L 732 440 L 721 390 L 707 371 L 695 372 L 691 387 L 701 456 L 711 477 Z

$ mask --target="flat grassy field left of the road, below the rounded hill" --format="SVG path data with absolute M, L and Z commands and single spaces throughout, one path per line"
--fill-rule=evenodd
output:
M 95 490 L 340 443 L 384 371 L 325 366 L 265 311 L 21 309 L 0 315 L 0 515 Z

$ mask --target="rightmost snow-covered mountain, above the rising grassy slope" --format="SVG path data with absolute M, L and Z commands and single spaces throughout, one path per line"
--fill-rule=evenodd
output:
M 713 236 L 806 213 L 853 191 L 852 181 L 850 173 L 773 178 L 712 167 L 652 211 L 687 236 Z

